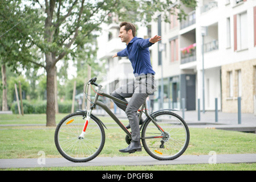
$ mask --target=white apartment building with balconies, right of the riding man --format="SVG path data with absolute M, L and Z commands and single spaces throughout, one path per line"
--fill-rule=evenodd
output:
M 164 107 L 253 113 L 256 103 L 256 1 L 199 0 L 188 18 L 170 22 L 156 14 L 152 35 L 162 40 L 152 49 L 152 64 L 163 90 Z M 162 86 L 163 84 L 163 86 Z M 160 97 L 159 97 L 160 98 Z M 204 101 L 204 102 L 203 102 Z M 161 105 L 161 101 L 156 102 Z M 160 106 L 159 106 L 160 107 Z

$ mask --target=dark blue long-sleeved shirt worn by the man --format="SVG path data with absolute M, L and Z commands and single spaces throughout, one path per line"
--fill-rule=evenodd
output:
M 151 65 L 148 49 L 148 47 L 152 45 L 153 43 L 149 42 L 149 39 L 137 38 L 137 36 L 135 36 L 123 51 L 117 52 L 117 56 L 129 57 L 129 60 L 132 63 L 133 74 L 135 76 L 149 73 L 155 75 Z

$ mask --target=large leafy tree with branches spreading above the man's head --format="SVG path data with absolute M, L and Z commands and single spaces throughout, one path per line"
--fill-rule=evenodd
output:
M 14 1 L 9 1 L 14 2 Z M 182 1 L 190 5 L 192 1 Z M 27 47 L 37 48 L 44 54 L 44 60 L 24 60 L 46 69 L 47 73 L 47 122 L 46 126 L 55 126 L 55 65 L 65 56 L 75 56 L 78 47 L 84 48 L 93 38 L 92 32 L 99 30 L 102 22 L 111 19 L 112 14 L 119 20 L 132 22 L 151 22 L 153 13 L 169 13 L 172 7 L 179 8 L 170 0 L 127 1 L 127 0 L 45 0 L 26 1 L 24 6 L 16 7 L 23 11 L 23 21 L 16 30 L 23 34 Z M 43 11 L 40 11 L 43 10 Z M 174 12 L 171 12 L 174 13 Z M 185 17 L 184 11 L 179 13 Z

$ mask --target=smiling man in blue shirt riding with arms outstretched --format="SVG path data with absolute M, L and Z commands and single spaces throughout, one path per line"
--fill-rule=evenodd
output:
M 135 80 L 116 89 L 111 95 L 126 101 L 125 98 L 131 98 L 128 105 L 115 104 L 124 110 L 129 119 L 127 129 L 132 130 L 132 141 L 127 148 L 119 150 L 120 152 L 141 151 L 140 144 L 140 126 L 137 110 L 145 102 L 149 94 L 156 91 L 155 71 L 152 69 L 149 48 L 161 40 L 160 36 L 154 36 L 150 39 L 137 38 L 136 27 L 129 22 L 120 23 L 119 38 L 125 42 L 127 47 L 123 51 L 115 53 L 113 57 L 129 57 L 132 63 Z M 140 123 L 141 124 L 141 123 Z

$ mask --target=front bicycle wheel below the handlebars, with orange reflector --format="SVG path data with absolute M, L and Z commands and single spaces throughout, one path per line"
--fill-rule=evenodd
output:
M 59 153 L 71 162 L 88 162 L 100 154 L 105 143 L 105 131 L 100 121 L 91 115 L 86 134 L 82 133 L 84 113 L 72 113 L 60 121 L 55 130 L 55 145 Z

